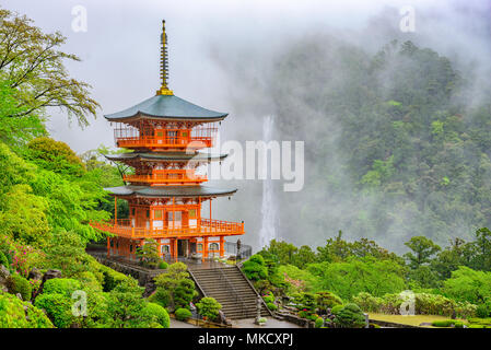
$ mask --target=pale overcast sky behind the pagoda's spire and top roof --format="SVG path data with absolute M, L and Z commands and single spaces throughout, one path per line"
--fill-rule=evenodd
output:
M 68 68 L 73 77 L 92 84 L 93 97 L 102 106 L 98 117 L 81 130 L 77 124 L 70 126 L 66 115 L 51 110 L 49 122 L 51 136 L 79 153 L 101 143 L 114 144 L 104 114 L 155 93 L 162 19 L 169 42 L 171 89 L 203 107 L 230 112 L 226 131 L 241 116 L 230 109 L 226 96 L 233 86 L 223 83 L 220 67 L 210 59 L 212 47 L 233 56 L 247 45 L 268 47 L 312 30 L 360 31 L 387 5 L 400 9 L 410 4 L 417 15 L 418 11 L 445 13 L 447 9 L 446 1 L 365 0 L 1 0 L 1 4 L 32 18 L 45 32 L 61 31 L 68 37 L 65 50 L 82 58 L 82 62 L 69 62 Z M 79 4 L 87 11 L 87 32 L 72 31 L 71 12 Z M 395 24 L 399 21 L 394 18 Z

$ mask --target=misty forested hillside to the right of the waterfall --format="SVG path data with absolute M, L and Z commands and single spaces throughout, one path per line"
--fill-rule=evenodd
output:
M 265 93 L 279 138 L 306 150 L 304 190 L 279 194 L 282 237 L 317 245 L 343 230 L 399 250 L 491 224 L 491 90 L 471 70 L 411 42 L 370 55 L 307 37 L 281 54 Z

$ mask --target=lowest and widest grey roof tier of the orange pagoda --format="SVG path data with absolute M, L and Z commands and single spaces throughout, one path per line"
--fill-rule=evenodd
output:
M 112 195 L 117 197 L 144 197 L 144 198 L 161 198 L 161 197 L 223 197 L 231 196 L 237 191 L 236 188 L 214 188 L 208 186 L 119 186 L 104 188 Z

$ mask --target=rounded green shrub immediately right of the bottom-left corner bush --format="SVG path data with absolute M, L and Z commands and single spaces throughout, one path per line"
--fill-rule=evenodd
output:
M 35 305 L 46 311 L 49 319 L 56 327 L 69 328 L 77 320 L 71 313 L 72 302 L 65 294 L 43 293 L 36 298 Z

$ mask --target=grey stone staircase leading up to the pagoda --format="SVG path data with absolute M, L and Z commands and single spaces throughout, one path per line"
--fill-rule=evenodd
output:
M 231 319 L 257 316 L 257 292 L 238 267 L 189 270 L 189 275 L 204 296 L 222 304 L 225 317 Z M 262 302 L 261 316 L 271 316 Z

